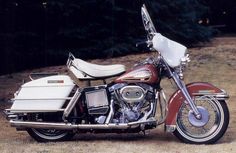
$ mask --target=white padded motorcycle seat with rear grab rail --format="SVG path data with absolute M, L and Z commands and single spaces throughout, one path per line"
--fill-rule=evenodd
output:
M 85 62 L 78 58 L 74 58 L 72 63 L 72 66 L 76 69 L 71 67 L 70 70 L 79 79 L 108 78 L 125 72 L 125 66 L 121 64 L 98 65 Z

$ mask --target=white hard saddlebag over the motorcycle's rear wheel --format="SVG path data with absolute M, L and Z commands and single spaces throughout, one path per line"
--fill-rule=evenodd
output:
M 44 77 L 21 86 L 11 111 L 53 111 L 61 109 L 75 84 L 66 75 Z

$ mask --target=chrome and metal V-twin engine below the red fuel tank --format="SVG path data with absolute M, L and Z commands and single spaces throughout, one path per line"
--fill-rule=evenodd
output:
M 115 102 L 114 123 L 127 123 L 139 120 L 150 110 L 154 100 L 154 90 L 143 83 L 128 85 L 116 84 L 111 88 Z

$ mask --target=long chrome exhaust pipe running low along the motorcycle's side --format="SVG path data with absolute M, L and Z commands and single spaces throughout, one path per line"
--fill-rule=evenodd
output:
M 109 123 L 109 124 L 71 124 L 71 123 L 53 123 L 53 122 L 28 122 L 10 120 L 10 125 L 19 129 L 35 128 L 35 129 L 58 129 L 58 130 L 74 130 L 74 129 L 128 129 L 135 128 L 141 124 L 156 124 L 155 119 L 131 122 L 131 123 Z

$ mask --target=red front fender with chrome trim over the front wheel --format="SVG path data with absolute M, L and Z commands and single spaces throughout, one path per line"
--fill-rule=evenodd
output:
M 221 99 L 221 100 L 229 98 L 229 96 L 226 94 L 224 90 L 221 90 L 210 83 L 194 82 L 194 83 L 187 84 L 186 88 L 191 97 L 201 96 L 201 95 L 213 95 L 217 99 Z M 170 97 L 169 102 L 168 102 L 169 112 L 165 120 L 166 131 L 173 132 L 175 130 L 178 111 L 180 109 L 181 104 L 184 102 L 184 100 L 185 98 L 180 90 L 177 90 Z

